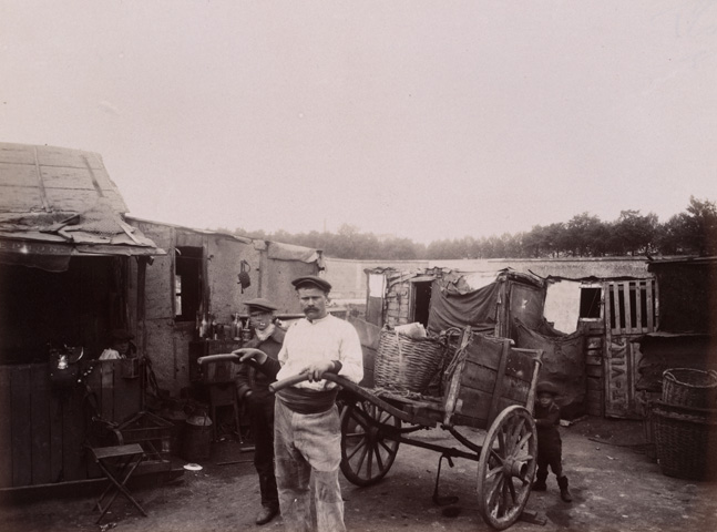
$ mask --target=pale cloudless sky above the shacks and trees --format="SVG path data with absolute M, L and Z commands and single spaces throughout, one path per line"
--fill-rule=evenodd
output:
M 194 228 L 666 222 L 717 201 L 717 2 L 0 0 L 0 142 Z

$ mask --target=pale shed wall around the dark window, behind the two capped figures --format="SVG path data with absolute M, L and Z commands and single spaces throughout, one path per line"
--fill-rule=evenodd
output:
M 240 242 L 231 235 L 202 233 L 183 227 L 145 221 L 131 221 L 167 255 L 155 257 L 147 266 L 145 284 L 146 354 L 162 389 L 173 396 L 190 386 L 190 341 L 195 339 L 194 321 L 175 320 L 174 272 L 175 247 L 202 247 L 206 272 L 206 311 L 217 323 L 228 325 L 232 315 L 246 313 L 244 301 L 266 297 L 278 307 L 278 314 L 299 314 L 300 307 L 290 280 L 300 275 L 314 275 L 316 263 L 267 258 L 265 243 Z M 238 284 L 240 263 L 246 260 L 250 286 L 242 291 Z M 133 263 L 136 270 L 136 263 Z M 130 277 L 136 276 L 134 272 Z M 136 290 L 130 307 L 136 326 Z M 143 341 L 137 339 L 137 341 Z

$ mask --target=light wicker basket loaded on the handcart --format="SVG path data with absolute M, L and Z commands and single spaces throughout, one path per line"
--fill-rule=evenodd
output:
M 423 393 L 442 368 L 444 351 L 436 338 L 381 330 L 373 367 L 376 387 Z

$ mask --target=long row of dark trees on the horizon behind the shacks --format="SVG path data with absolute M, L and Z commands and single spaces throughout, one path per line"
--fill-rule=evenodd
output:
M 344 224 L 338 232 L 293 234 L 284 229 L 221 229 L 240 236 L 322 249 L 334 258 L 354 259 L 462 259 L 560 258 L 653 255 L 717 255 L 715 202 L 692 196 L 687 208 L 667 222 L 639 211 L 622 211 L 613 222 L 582 213 L 564 223 L 535 225 L 531 231 L 500 236 L 445 238 L 428 245 L 410 238 L 377 236 Z

